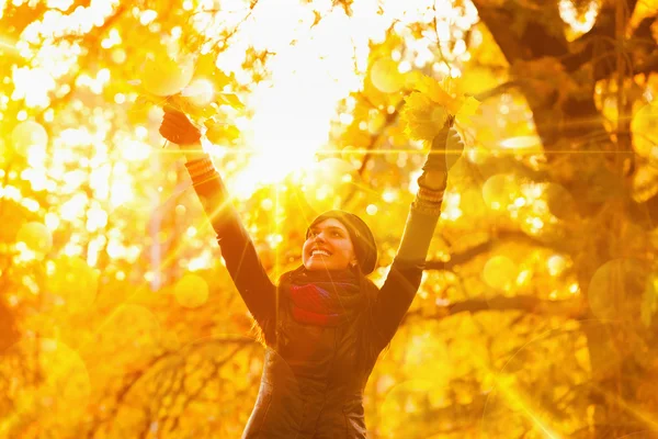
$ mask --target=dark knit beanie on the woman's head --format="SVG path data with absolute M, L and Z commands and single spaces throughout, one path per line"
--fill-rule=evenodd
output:
M 372 273 L 377 263 L 377 244 L 367 224 L 353 213 L 333 210 L 320 214 L 310 223 L 308 229 L 306 229 L 306 237 L 308 238 L 310 227 L 328 218 L 336 218 L 345 226 L 354 246 L 354 254 L 356 255 L 361 272 L 363 274 Z

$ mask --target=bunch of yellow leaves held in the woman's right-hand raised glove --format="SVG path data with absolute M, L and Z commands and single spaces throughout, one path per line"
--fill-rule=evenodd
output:
M 434 78 L 418 75 L 415 91 L 405 98 L 402 123 L 409 137 L 432 142 L 449 117 L 464 122 L 477 110 L 479 102 L 468 95 L 453 97 Z

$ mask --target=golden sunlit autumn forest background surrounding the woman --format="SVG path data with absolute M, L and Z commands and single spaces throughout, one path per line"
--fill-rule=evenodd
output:
M 207 128 L 273 279 L 340 206 L 377 283 L 426 156 L 399 117 L 421 74 L 480 105 L 371 437 L 656 437 L 657 11 L 0 1 L 0 438 L 239 437 L 263 348 L 160 106 Z

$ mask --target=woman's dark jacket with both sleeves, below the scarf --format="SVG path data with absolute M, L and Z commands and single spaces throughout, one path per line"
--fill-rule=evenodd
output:
M 276 308 L 276 288 L 234 207 L 226 203 L 219 176 L 205 172 L 192 179 L 251 315 L 264 330 L 272 322 L 277 328 L 276 342 L 266 347 L 258 399 L 242 438 L 365 438 L 363 390 L 378 353 L 413 301 L 438 214 L 412 207 L 376 301 L 352 322 L 320 327 L 291 318 L 282 301 Z

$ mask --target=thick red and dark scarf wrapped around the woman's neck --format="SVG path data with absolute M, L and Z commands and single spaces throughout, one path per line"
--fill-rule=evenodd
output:
M 352 320 L 366 304 L 358 277 L 350 270 L 308 271 L 298 268 L 282 277 L 281 292 L 292 316 L 308 325 L 333 327 Z

